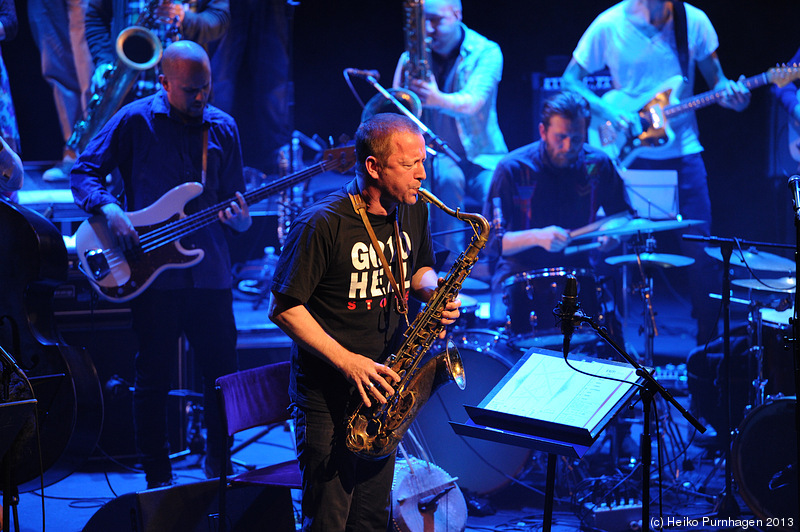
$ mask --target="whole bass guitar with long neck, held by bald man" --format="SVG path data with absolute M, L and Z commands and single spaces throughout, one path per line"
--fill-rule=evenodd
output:
M 355 164 L 355 148 L 326 150 L 322 160 L 308 168 L 243 194 L 248 205 L 327 171 L 344 172 Z M 75 232 L 80 270 L 105 299 L 124 302 L 141 294 L 158 275 L 170 268 L 189 268 L 203 259 L 202 249 L 188 250 L 180 239 L 219 223 L 218 212 L 230 200 L 187 216 L 184 207 L 203 192 L 197 182 L 183 183 L 149 207 L 127 213 L 139 234 L 139 247 L 123 252 L 115 244 L 105 217 L 91 216 Z

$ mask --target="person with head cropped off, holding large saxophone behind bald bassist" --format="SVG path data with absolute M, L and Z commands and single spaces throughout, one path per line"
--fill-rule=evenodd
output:
M 133 25 L 147 9 L 145 0 L 89 0 L 86 10 L 86 41 L 95 64 L 92 75 L 92 92 L 105 85 L 108 72 L 116 61 L 114 51 L 117 36 Z M 208 44 L 222 37 L 230 24 L 228 0 L 199 0 L 196 8 L 189 4 L 164 0 L 155 8 L 160 26 L 155 28 L 163 47 L 178 39 L 194 41 L 208 52 Z M 155 93 L 158 89 L 156 73 L 142 74 L 128 100 Z

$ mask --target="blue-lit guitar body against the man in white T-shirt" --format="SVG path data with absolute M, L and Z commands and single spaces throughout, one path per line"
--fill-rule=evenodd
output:
M 627 129 L 615 127 L 594 117 L 588 131 L 589 144 L 603 150 L 619 166 L 627 167 L 636 157 L 669 146 L 675 134 L 665 116 L 665 109 L 676 105 L 683 78 L 668 79 L 655 96 L 632 98 L 620 90 L 603 94 L 603 101 L 616 108 L 637 114 L 641 125 L 632 124 Z

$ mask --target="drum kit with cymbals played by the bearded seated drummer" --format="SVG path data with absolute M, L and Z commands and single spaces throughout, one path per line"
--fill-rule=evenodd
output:
M 580 242 L 599 236 L 632 237 L 644 235 L 650 248 L 640 253 L 611 257 L 607 262 L 620 266 L 640 266 L 644 275 L 651 267 L 681 267 L 693 259 L 653 252 L 652 233 L 689 227 L 695 220 L 651 221 L 640 219 L 613 220 L 608 226 L 594 223 L 572 232 Z M 605 220 L 604 220 L 605 221 Z M 522 272 L 503 283 L 503 299 L 508 309 L 505 327 L 499 330 L 479 327 L 474 317 L 478 303 L 475 297 L 460 294 L 462 317 L 450 335 L 468 368 L 469 386 L 464 391 L 442 387 L 425 405 L 412 426 L 423 436 L 431 459 L 448 473 L 458 477 L 459 486 L 476 495 L 488 495 L 525 474 L 533 467 L 532 452 L 528 449 L 485 440 L 463 438 L 452 431 L 443 431 L 448 422 L 465 422 L 463 404 L 478 404 L 502 380 L 511 367 L 531 347 L 560 349 L 563 335 L 556 325 L 553 308 L 558 304 L 568 275 L 579 281 L 581 308 L 587 315 L 603 319 L 607 311 L 605 287 L 591 269 L 554 267 Z M 480 281 L 465 283 L 464 292 L 489 289 Z M 576 330 L 572 344 L 588 345 L 597 341 L 593 331 Z M 425 437 L 429 435 L 430 437 Z

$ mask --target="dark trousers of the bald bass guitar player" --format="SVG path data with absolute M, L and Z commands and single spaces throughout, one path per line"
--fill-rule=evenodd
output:
M 171 477 L 167 438 L 167 393 L 183 332 L 203 376 L 206 452 L 221 456 L 222 429 L 214 383 L 237 369 L 236 324 L 230 290 L 149 289 L 131 301 L 139 340 L 135 359 L 133 421 L 136 446 L 148 482 Z

